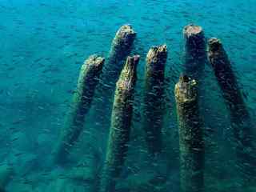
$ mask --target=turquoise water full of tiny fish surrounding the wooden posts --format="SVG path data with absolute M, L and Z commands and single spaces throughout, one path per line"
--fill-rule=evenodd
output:
M 193 22 L 203 27 L 206 38 L 222 40 L 254 125 L 255 10 L 254 0 L 2 0 L 0 186 L 19 192 L 97 190 L 109 133 L 109 127 L 98 122 L 98 98 L 86 114 L 85 129 L 72 149 L 71 163 L 52 163 L 51 150 L 64 126 L 82 63 L 90 54 L 107 58 L 114 34 L 129 23 L 137 33 L 131 54 L 140 54 L 141 59 L 129 151 L 117 191 L 181 191 L 174 84 L 184 70 L 182 28 Z M 150 46 L 164 43 L 168 47 L 164 150 L 152 159 L 140 129 L 144 67 Z M 203 84 L 202 116 L 211 128 L 205 131 L 205 191 L 255 191 L 254 182 L 241 186 L 230 142 L 229 110 L 210 65 L 206 65 Z M 81 161 L 86 166 L 79 166 Z M 6 169 L 11 170 L 7 176 Z

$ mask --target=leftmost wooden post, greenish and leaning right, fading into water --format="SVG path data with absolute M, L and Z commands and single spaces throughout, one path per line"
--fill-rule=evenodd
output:
M 104 61 L 104 58 L 94 54 L 82 65 L 77 90 L 74 92 L 70 111 L 66 116 L 65 125 L 54 149 L 55 162 L 60 164 L 66 162 L 70 148 L 82 133 L 85 115 L 90 110 Z

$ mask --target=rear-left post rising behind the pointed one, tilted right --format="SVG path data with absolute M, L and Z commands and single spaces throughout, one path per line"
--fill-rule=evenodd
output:
M 118 81 L 119 74 L 126 62 L 127 56 L 132 50 L 136 33 L 132 26 L 121 26 L 112 41 L 110 54 L 103 67 L 102 85 L 100 86 L 100 95 L 102 97 L 97 103 L 98 111 L 104 125 L 109 127 L 108 117 L 110 116 L 112 98 L 114 95 L 115 83 Z M 102 96 L 103 95 L 103 96 Z M 106 127 L 106 128 L 107 128 Z

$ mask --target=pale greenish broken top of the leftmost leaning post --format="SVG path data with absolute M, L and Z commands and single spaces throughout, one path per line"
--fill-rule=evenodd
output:
M 83 69 L 93 69 L 93 70 L 101 71 L 104 62 L 105 62 L 105 58 L 98 56 L 98 54 L 93 54 L 86 59 L 82 67 Z

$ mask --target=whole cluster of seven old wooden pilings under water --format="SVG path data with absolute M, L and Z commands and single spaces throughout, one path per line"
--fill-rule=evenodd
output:
M 251 153 L 254 143 L 250 130 L 250 114 L 222 42 L 218 38 L 210 38 L 207 45 L 201 26 L 185 26 L 183 34 L 186 42 L 185 70 L 174 88 L 178 116 L 181 191 L 204 191 L 205 142 L 198 100 L 202 94 L 200 90 L 206 62 L 210 62 L 226 106 L 230 110 L 238 166 L 245 177 L 255 177 L 256 162 Z M 130 142 L 136 67 L 140 60 L 138 55 L 129 56 L 135 36 L 136 33 L 130 25 L 122 26 L 112 42 L 106 64 L 105 59 L 98 55 L 92 55 L 86 60 L 78 78 L 78 88 L 74 93 L 65 127 L 54 148 L 54 161 L 64 165 L 68 161 L 67 156 L 74 142 L 82 133 L 86 113 L 90 110 L 94 98 L 94 90 L 99 79 L 103 79 L 106 83 L 102 88 L 104 102 L 100 105 L 103 113 L 104 109 L 106 114 L 112 109 L 112 114 L 109 120 L 106 158 L 99 182 L 101 192 L 115 191 Z M 153 46 L 146 55 L 142 130 L 145 131 L 148 151 L 152 155 L 159 154 L 162 150 L 166 58 L 166 45 Z M 114 102 L 109 102 L 110 100 Z

